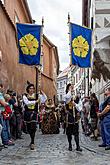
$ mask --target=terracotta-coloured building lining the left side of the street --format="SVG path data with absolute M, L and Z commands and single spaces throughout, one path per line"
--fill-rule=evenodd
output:
M 16 22 L 33 23 L 27 0 L 0 0 L 0 79 L 5 89 L 23 93 L 27 80 L 36 83 L 36 68 L 18 64 Z M 59 70 L 57 47 L 43 36 L 43 69 L 41 87 L 48 97 L 57 94 Z M 51 88 L 48 92 L 47 86 Z

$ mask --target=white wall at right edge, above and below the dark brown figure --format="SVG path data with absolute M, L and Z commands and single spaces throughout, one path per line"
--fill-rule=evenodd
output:
M 108 68 L 110 75 L 110 0 L 93 0 L 91 4 L 91 16 L 93 17 L 93 47 L 98 51 L 104 66 Z M 108 63 L 108 64 L 107 64 Z M 99 101 L 104 99 L 104 89 L 110 86 L 110 79 L 92 80 L 92 92 L 95 92 Z

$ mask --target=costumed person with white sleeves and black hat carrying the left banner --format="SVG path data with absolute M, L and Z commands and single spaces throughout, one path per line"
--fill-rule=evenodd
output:
M 26 88 L 27 95 L 23 96 L 24 102 L 24 121 L 26 123 L 27 132 L 31 137 L 30 149 L 34 150 L 34 138 L 36 132 L 36 122 L 37 122 L 37 101 L 34 94 L 34 85 L 29 84 Z

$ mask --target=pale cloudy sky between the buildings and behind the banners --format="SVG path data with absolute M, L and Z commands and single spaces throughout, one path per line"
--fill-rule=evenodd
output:
M 69 66 L 69 28 L 70 20 L 82 24 L 82 0 L 28 0 L 32 19 L 41 24 L 44 17 L 43 33 L 58 48 L 60 70 Z

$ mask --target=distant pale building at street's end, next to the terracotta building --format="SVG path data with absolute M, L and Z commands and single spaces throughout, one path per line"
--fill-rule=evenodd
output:
M 64 100 L 69 69 L 70 67 L 67 67 L 57 77 L 57 98 L 59 102 Z

